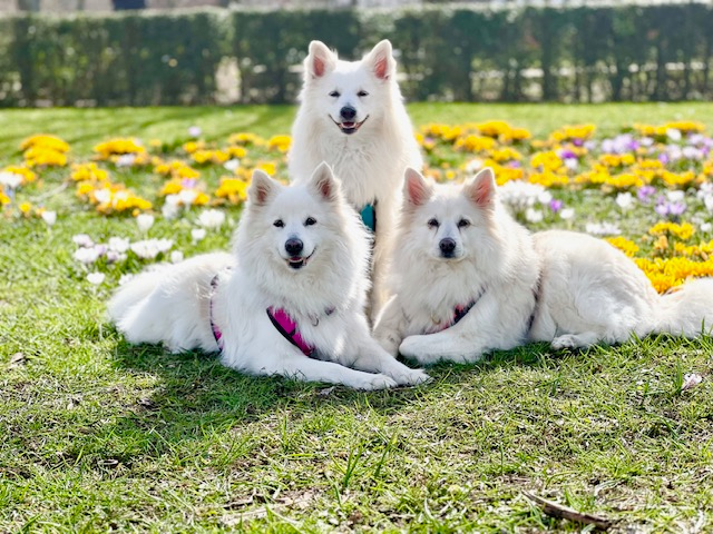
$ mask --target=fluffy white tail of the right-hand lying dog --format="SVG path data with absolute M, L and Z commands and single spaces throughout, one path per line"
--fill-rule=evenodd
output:
M 687 281 L 661 297 L 656 333 L 687 338 L 713 330 L 713 278 Z

